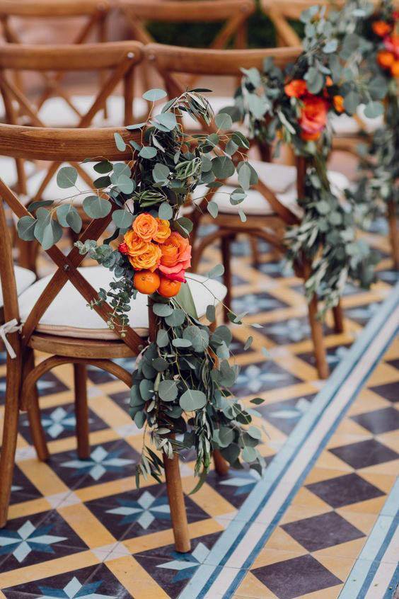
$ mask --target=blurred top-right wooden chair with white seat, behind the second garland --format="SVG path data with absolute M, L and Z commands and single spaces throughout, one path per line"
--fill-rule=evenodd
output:
M 288 47 L 297 47 L 301 45 L 301 40 L 289 21 L 298 21 L 301 12 L 310 8 L 315 3 L 313 0 L 261 0 L 262 10 L 270 17 L 277 31 L 277 40 L 279 45 Z M 337 0 L 332 4 L 328 0 L 321 0 L 318 6 L 325 6 L 337 10 L 345 5 L 344 0 Z M 372 0 L 376 11 L 381 6 L 380 0 Z M 393 1 L 393 6 L 399 10 L 399 0 Z M 359 110 L 352 117 L 340 115 L 332 120 L 332 130 L 334 138 L 332 148 L 340 152 L 349 152 L 358 157 L 357 147 L 364 142 L 364 139 L 370 138 L 374 132 L 383 126 L 383 116 L 377 118 L 367 118 L 364 115 L 364 106 L 359 106 Z M 388 203 L 388 227 L 391 239 L 393 263 L 399 270 L 399 232 L 398 219 L 396 217 L 394 202 Z

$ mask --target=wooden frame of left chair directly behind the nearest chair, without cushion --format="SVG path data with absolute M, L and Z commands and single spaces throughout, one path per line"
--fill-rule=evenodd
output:
M 93 71 L 100 74 L 100 86 L 98 92 L 93 96 L 93 103 L 84 115 L 74 108 L 68 93 L 62 93 L 62 97 L 76 111 L 79 122 L 76 127 L 89 127 L 93 118 L 100 110 L 104 110 L 106 101 L 118 84 L 123 84 L 125 100 L 124 124 L 128 125 L 134 121 L 133 99 L 134 99 L 134 69 L 142 59 L 142 45 L 139 42 L 104 42 L 101 44 L 86 45 L 24 45 L 6 44 L 0 46 L 0 91 L 4 98 L 6 108 L 6 120 L 8 124 L 18 125 L 21 115 L 25 115 L 30 125 L 45 127 L 45 122 L 40 119 L 40 101 L 34 105 L 32 101 L 16 86 L 13 75 L 22 72 L 54 72 L 56 75 L 66 72 Z M 103 76 L 105 75 L 105 77 Z M 59 93 L 59 84 L 54 89 Z M 49 96 L 50 97 L 50 96 Z M 15 104 L 18 104 L 16 110 Z M 18 173 L 18 191 L 26 195 L 27 182 L 23 160 L 16 159 Z M 93 181 L 82 167 L 74 163 L 73 166 L 79 172 L 83 181 L 89 187 L 93 187 Z M 42 194 L 52 180 L 59 164 L 52 162 L 47 166 L 45 178 L 40 184 L 32 201 L 42 199 Z M 87 217 L 81 214 L 83 220 Z M 21 251 L 21 266 L 35 270 L 37 244 L 19 244 Z

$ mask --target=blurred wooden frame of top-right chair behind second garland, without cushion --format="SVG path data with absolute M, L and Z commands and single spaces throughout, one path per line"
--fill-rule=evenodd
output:
M 371 0 L 375 8 L 380 6 L 379 0 Z M 260 0 L 262 11 L 270 18 L 277 32 L 277 42 L 279 46 L 295 47 L 301 45 L 301 40 L 294 29 L 288 22 L 288 19 L 297 20 L 301 16 L 301 12 L 310 8 L 315 3 L 313 0 Z M 317 3 L 319 6 L 325 6 L 327 10 L 330 8 L 340 8 L 344 6 L 345 0 L 336 0 L 335 4 L 331 4 L 328 0 L 320 0 Z M 399 9 L 399 0 L 393 0 L 395 8 Z M 364 122 L 358 115 L 353 115 L 354 120 L 360 127 L 363 135 L 370 137 L 364 129 Z M 348 152 L 359 157 L 357 146 L 364 142 L 364 137 L 359 135 L 336 135 L 332 140 L 332 149 L 340 152 Z M 394 202 L 388 202 L 387 205 L 387 220 L 389 228 L 389 237 L 391 240 L 393 265 L 396 270 L 399 270 L 399 231 L 398 219 L 396 217 Z

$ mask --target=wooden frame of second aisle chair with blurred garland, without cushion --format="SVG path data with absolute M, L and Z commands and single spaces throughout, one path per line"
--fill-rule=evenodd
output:
M 176 79 L 175 73 L 190 73 L 195 75 L 212 74 L 219 76 L 239 76 L 241 68 L 258 67 L 262 69 L 262 64 L 265 58 L 273 57 L 274 62 L 284 67 L 289 62 L 296 59 L 301 53 L 301 48 L 277 48 L 265 50 L 197 50 L 191 48 L 181 48 L 175 46 L 165 46 L 161 44 L 151 44 L 144 48 L 144 52 L 149 61 L 154 64 L 158 72 L 165 81 L 166 90 L 170 97 L 175 96 L 181 90 L 181 84 Z M 209 66 L 210 65 L 210 66 Z M 214 132 L 212 125 L 208 126 L 202 123 L 204 130 Z M 267 154 L 268 152 L 266 152 Z M 297 180 L 296 188 L 298 197 L 303 196 L 306 176 L 306 160 L 302 157 L 296 157 Z M 284 253 L 285 247 L 282 240 L 282 234 L 288 226 L 299 223 L 299 218 L 296 217 L 286 206 L 278 200 L 276 195 L 267 187 L 267 185 L 259 181 L 255 186 L 265 198 L 265 202 L 274 210 L 274 215 L 247 215 L 246 222 L 241 222 L 238 215 L 229 215 L 226 213 L 220 214 L 216 219 L 205 216 L 207 215 L 207 202 L 216 193 L 216 190 L 210 190 L 207 197 L 202 200 L 198 206 L 198 210 L 194 211 L 192 220 L 194 229 L 192 232 L 192 246 L 194 251 L 194 259 L 192 268 L 195 270 L 199 263 L 199 258 L 204 249 L 212 244 L 216 239 L 221 239 L 221 254 L 224 263 L 224 285 L 228 289 L 226 295 L 227 306 L 231 305 L 231 251 L 230 244 L 234 236 L 238 233 L 245 233 L 254 238 L 265 239 L 279 252 Z M 218 230 L 209 234 L 195 247 L 197 230 L 199 223 L 212 222 L 218 226 Z M 311 275 L 311 265 L 302 260 L 302 268 L 298 268 L 298 273 L 306 280 Z M 327 378 L 329 375 L 329 367 L 325 355 L 323 343 L 323 324 L 317 317 L 318 314 L 318 298 L 313 295 L 313 298 L 308 304 L 309 324 L 311 326 L 311 336 L 313 340 L 314 353 L 316 358 L 316 368 L 320 378 Z M 342 333 L 343 317 L 340 304 L 333 309 L 335 331 Z

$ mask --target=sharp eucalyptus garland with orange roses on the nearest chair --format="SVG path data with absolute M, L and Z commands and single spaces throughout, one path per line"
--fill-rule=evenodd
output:
M 154 109 L 155 102 L 165 96 L 163 90 L 153 89 L 143 98 L 152 101 Z M 207 307 L 208 326 L 199 321 L 186 285 L 190 279 L 186 270 L 190 268 L 192 222 L 181 215 L 197 185 L 204 183 L 209 190 L 220 185 L 216 179 L 224 179 L 236 170 L 224 149 L 226 144 L 231 142 L 235 151 L 239 147 L 247 149 L 249 144 L 240 132 L 220 132 L 220 119 L 218 133 L 185 134 L 180 125 L 183 113 L 207 124 L 213 118 L 207 99 L 196 90 L 168 101 L 158 115 L 152 113 L 146 122 L 127 127 L 140 130 L 141 143 L 126 144 L 121 135 L 115 134 L 117 149 L 125 151 L 128 147 L 132 151 L 129 164 L 112 164 L 105 159 L 94 164 L 100 176 L 94 181 L 93 193 L 83 200 L 83 211 L 96 219 L 106 217 L 113 209 L 115 232 L 100 245 L 94 240 L 84 244 L 77 241 L 75 245 L 114 275 L 110 289 L 101 289 L 96 302 L 110 302 L 110 329 L 124 336 L 129 302 L 137 292 L 149 295 L 156 320 L 156 337 L 149 340 L 137 359 L 131 389 L 130 415 L 139 428 L 144 428 L 137 485 L 141 475 L 161 480 L 163 462 L 145 440 L 146 430 L 150 430 L 156 450 L 168 457 L 173 452 L 195 449 L 198 487 L 208 472 L 214 450 L 220 450 L 233 467 L 241 467 L 240 460 L 258 472 L 264 466 L 257 447 L 261 431 L 250 424 L 257 412 L 244 408 L 231 394 L 238 367 L 229 363 L 231 330 L 216 326 L 219 298 L 214 297 Z M 237 169 L 243 164 L 245 161 Z M 71 166 L 57 173 L 62 188 L 74 188 L 76 180 L 76 169 Z M 71 195 L 69 202 L 33 202 L 28 207 L 31 215 L 18 222 L 21 238 L 36 239 L 49 249 L 61 239 L 62 227 L 79 234 L 82 221 L 74 206 L 77 195 Z M 232 201 L 235 195 L 242 200 L 245 190 L 238 187 Z M 115 240 L 120 243 L 113 247 Z M 207 276 L 221 274 L 223 267 L 218 265 Z M 207 286 L 206 281 L 202 285 Z M 242 317 L 229 313 L 233 324 L 241 324 Z M 250 337 L 245 349 L 251 343 Z M 262 401 L 255 398 L 252 403 Z

